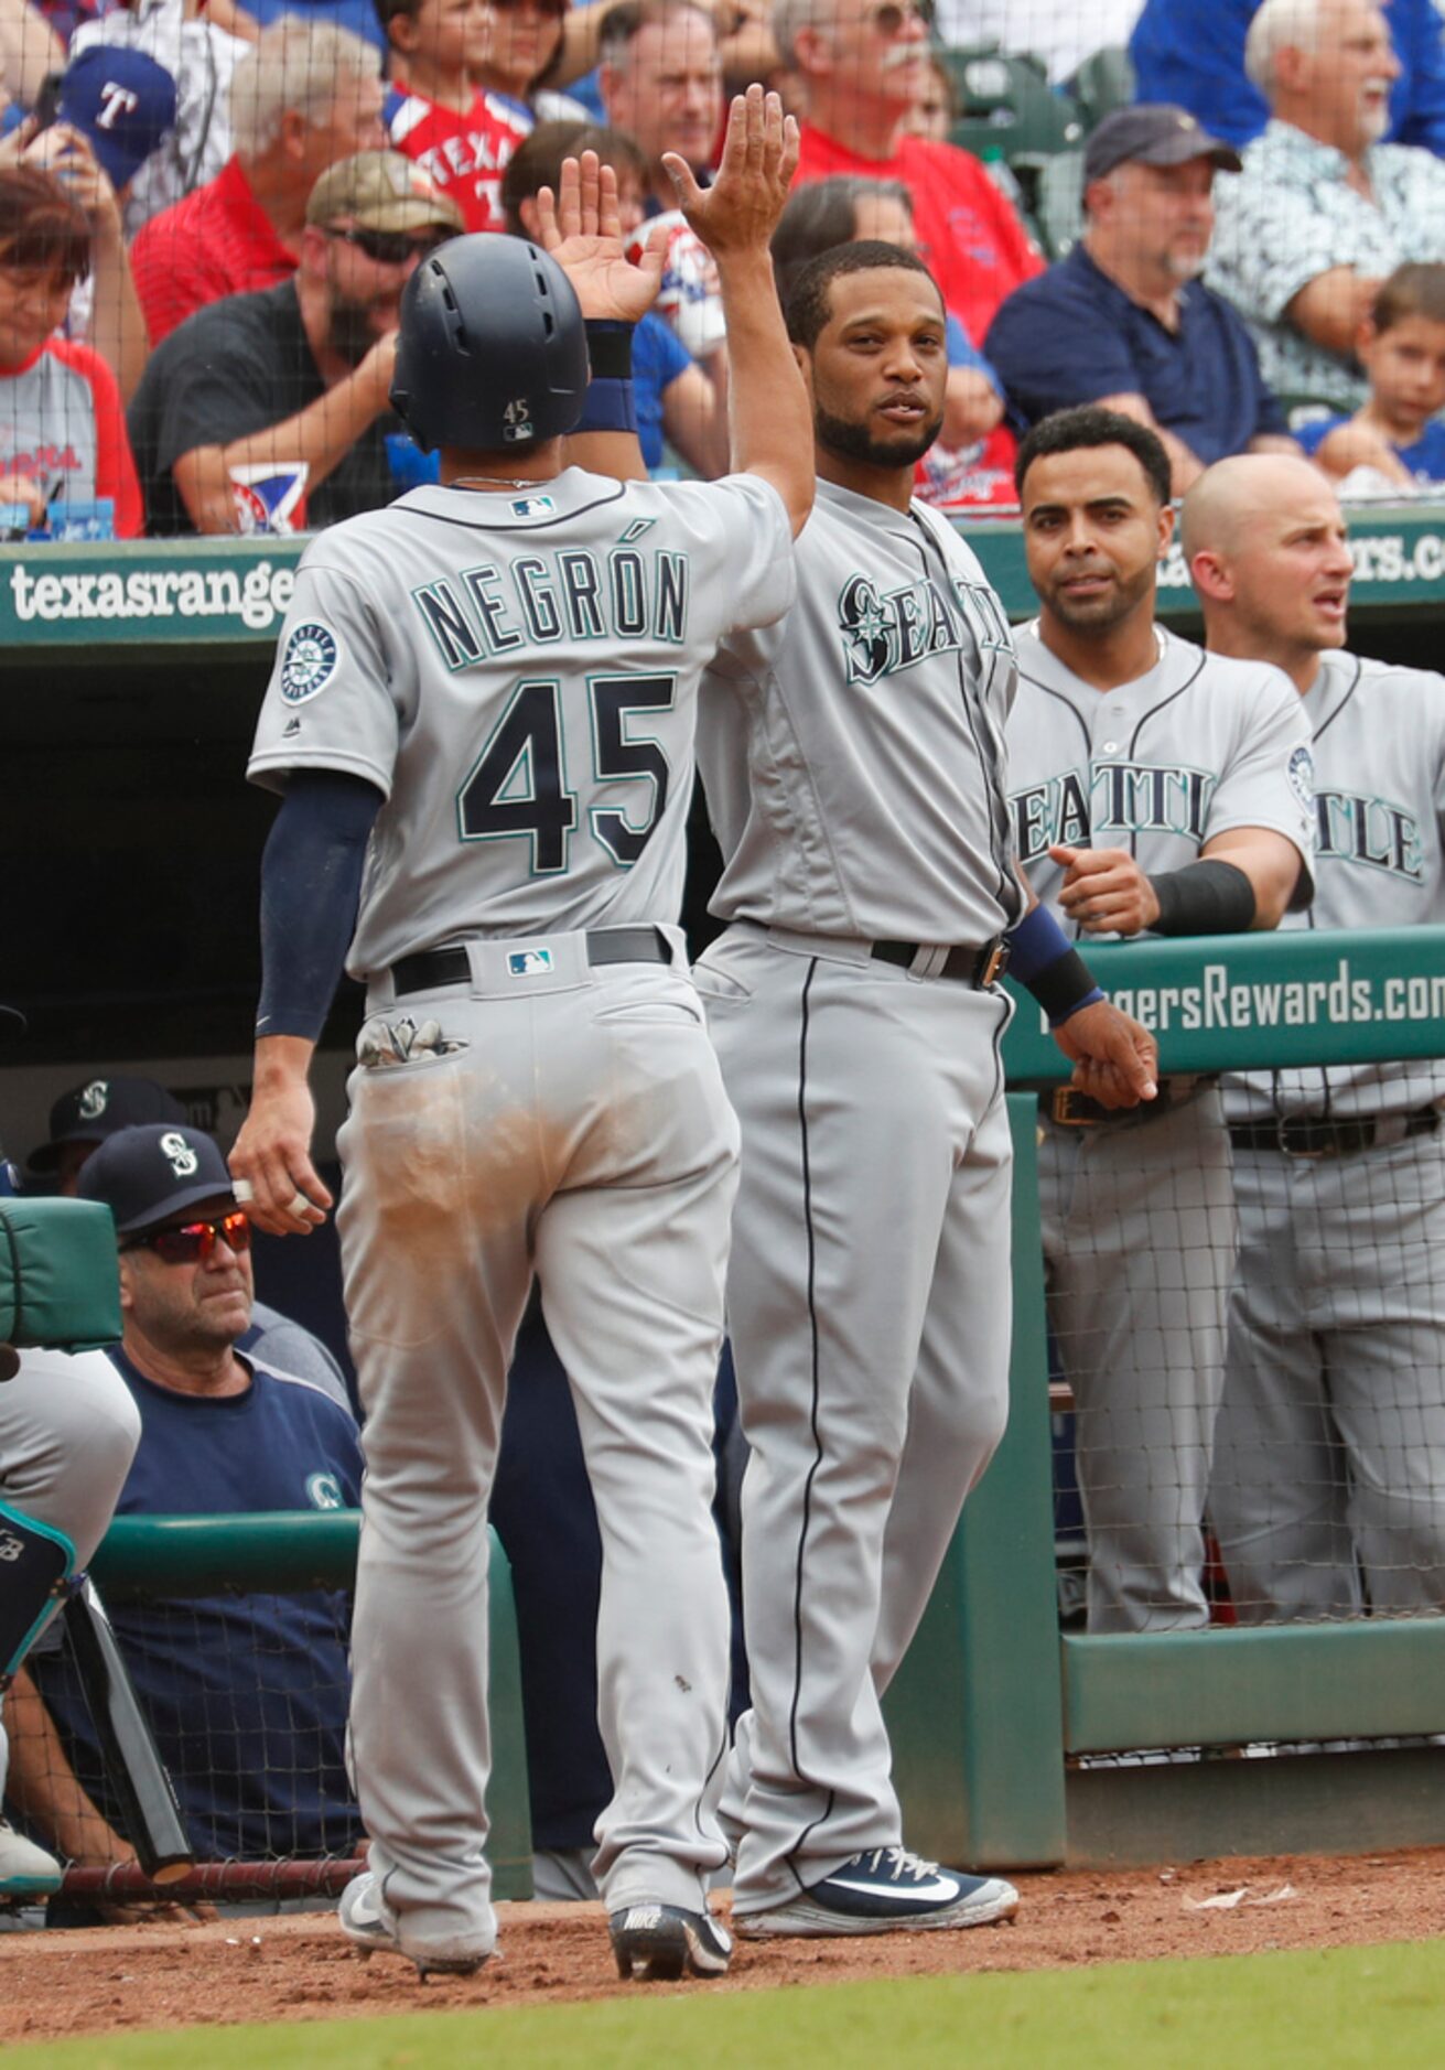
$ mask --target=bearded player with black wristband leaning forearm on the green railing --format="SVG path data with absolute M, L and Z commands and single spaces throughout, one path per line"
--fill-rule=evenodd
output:
M 1016 478 L 1041 613 L 1019 635 L 1008 789 L 1033 890 L 1093 936 L 1277 925 L 1310 892 L 1308 727 L 1277 669 L 1155 625 L 1159 439 L 1110 410 L 1060 412 L 1025 439 Z M 1122 1118 L 1043 1101 L 1039 1190 L 1089 1629 L 1203 1625 L 1236 1242 L 1217 1085 L 1166 1078 Z

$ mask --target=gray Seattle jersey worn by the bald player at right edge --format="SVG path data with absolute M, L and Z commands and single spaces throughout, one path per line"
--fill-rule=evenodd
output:
M 1317 892 L 1288 927 L 1445 923 L 1445 677 L 1323 654 L 1302 700 L 1315 729 Z M 1393 1114 L 1445 1095 L 1445 1064 L 1244 1072 L 1232 1120 Z

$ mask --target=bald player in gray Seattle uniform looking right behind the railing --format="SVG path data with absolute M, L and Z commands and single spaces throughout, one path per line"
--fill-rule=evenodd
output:
M 1350 544 L 1306 462 L 1184 503 L 1211 652 L 1315 735 L 1317 892 L 1292 927 L 1445 923 L 1445 677 L 1346 650 Z M 1445 1608 L 1445 1064 L 1228 1076 L 1240 1261 L 1209 1513 L 1244 1623 Z

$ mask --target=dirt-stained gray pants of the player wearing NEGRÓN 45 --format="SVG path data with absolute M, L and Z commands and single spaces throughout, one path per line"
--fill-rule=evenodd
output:
M 737 1124 L 685 965 L 590 969 L 582 936 L 474 942 L 472 985 L 371 1008 L 447 1054 L 358 1066 L 337 1147 L 366 1410 L 352 1759 L 408 1954 L 484 1954 L 486 1499 L 532 1273 L 602 1532 L 611 1911 L 698 1911 L 727 1849 L 729 1608 L 712 1387 Z M 679 938 L 681 940 L 681 938 Z M 681 950 L 679 950 L 681 954 Z

